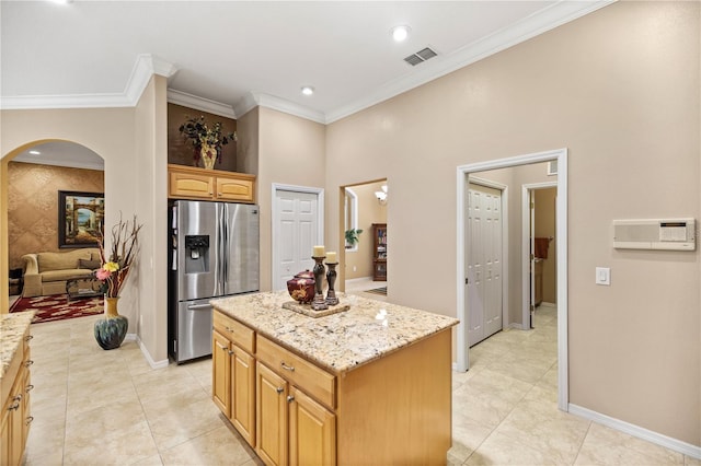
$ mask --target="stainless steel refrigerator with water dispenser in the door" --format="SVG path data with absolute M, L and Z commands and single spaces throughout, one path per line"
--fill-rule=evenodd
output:
M 169 203 L 169 356 L 176 363 L 211 354 L 209 300 L 258 290 L 258 208 Z

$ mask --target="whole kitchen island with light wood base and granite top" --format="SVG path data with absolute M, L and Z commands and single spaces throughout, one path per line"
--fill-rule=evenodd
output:
M 445 464 L 455 318 L 341 295 L 309 317 L 287 292 L 212 300 L 212 397 L 266 464 Z

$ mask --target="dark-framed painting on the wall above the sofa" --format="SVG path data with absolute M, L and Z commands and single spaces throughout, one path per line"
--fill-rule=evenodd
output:
M 58 191 L 58 247 L 96 247 L 104 218 L 104 193 Z

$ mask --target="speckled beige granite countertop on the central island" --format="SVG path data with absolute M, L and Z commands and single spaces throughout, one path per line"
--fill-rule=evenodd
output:
M 219 311 L 261 335 L 340 374 L 458 324 L 433 314 L 356 295 L 336 293 L 345 312 L 309 317 L 283 308 L 287 291 L 212 300 Z

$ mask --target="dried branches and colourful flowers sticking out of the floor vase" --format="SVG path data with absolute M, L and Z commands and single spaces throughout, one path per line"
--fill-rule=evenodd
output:
M 95 271 L 97 280 L 103 282 L 106 298 L 119 298 L 122 287 L 127 280 L 131 264 L 139 252 L 139 231 L 141 226 L 134 220 L 124 222 L 119 214 L 119 222 L 112 228 L 112 251 L 107 256 L 104 249 L 104 238 L 100 237 L 100 259 L 102 267 Z

